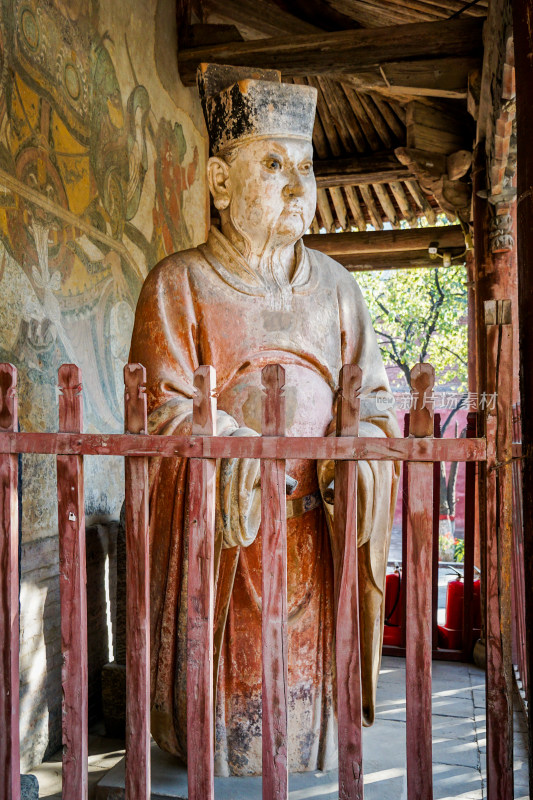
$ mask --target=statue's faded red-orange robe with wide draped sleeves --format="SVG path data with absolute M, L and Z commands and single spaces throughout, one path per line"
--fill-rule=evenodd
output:
M 217 433 L 260 432 L 261 370 L 286 372 L 288 436 L 334 435 L 339 371 L 362 368 L 360 433 L 397 436 L 389 385 L 361 292 L 332 259 L 296 246 L 291 280 L 265 282 L 216 229 L 201 247 L 149 274 L 130 361 L 147 370 L 149 430 L 191 431 L 193 372 L 217 375 Z M 245 460 L 217 463 L 215 684 L 218 775 L 261 772 L 260 489 Z M 288 503 L 289 767 L 336 762 L 332 506 L 320 492 L 333 463 L 288 461 L 298 481 Z M 363 714 L 374 716 L 383 635 L 385 570 L 397 465 L 360 462 L 358 544 Z M 305 498 L 305 500 L 302 500 Z M 317 499 L 318 498 L 318 499 Z M 186 759 L 187 459 L 150 465 L 152 733 Z

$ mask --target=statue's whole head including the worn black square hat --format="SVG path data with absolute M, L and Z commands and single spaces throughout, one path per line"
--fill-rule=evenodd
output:
M 316 207 L 316 90 L 279 81 L 276 70 L 218 65 L 202 65 L 198 75 L 213 202 L 223 229 L 254 250 L 296 242 Z

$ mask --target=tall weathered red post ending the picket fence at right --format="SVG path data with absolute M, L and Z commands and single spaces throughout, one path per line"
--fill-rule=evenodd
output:
M 511 302 L 485 303 L 487 327 L 486 554 L 487 797 L 513 798 L 511 637 L 512 358 Z M 482 396 L 483 397 L 483 396 Z

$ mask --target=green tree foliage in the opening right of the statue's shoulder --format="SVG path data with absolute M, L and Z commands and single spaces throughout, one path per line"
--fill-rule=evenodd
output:
M 440 269 L 359 273 L 385 364 L 409 384 L 419 361 L 435 367 L 438 383 L 467 385 L 467 288 L 463 265 Z

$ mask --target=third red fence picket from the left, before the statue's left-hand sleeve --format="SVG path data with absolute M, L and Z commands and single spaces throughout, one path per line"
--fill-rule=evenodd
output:
M 124 432 L 148 433 L 146 370 L 124 367 Z M 126 800 L 150 798 L 148 459 L 125 459 Z

